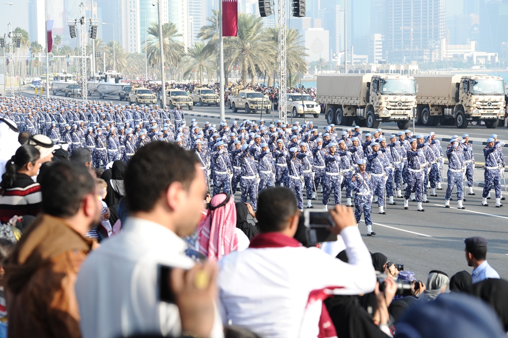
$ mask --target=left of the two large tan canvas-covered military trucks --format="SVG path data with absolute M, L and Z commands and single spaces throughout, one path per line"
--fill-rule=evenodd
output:
M 317 76 L 316 101 L 326 104 L 328 124 L 378 128 L 394 121 L 404 130 L 415 114 L 416 92 L 411 75 L 323 74 Z

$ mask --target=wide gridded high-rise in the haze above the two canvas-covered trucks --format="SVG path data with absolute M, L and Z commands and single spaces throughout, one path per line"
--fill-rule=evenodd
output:
M 385 44 L 392 63 L 443 58 L 444 0 L 386 0 Z

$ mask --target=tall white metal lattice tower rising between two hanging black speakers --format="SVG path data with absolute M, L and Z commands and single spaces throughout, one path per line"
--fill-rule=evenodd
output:
M 283 124 L 288 122 L 286 112 L 286 73 L 287 73 L 287 41 L 286 41 L 286 1 L 279 0 L 279 119 Z

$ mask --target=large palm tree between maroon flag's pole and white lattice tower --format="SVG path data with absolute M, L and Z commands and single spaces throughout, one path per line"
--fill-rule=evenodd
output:
M 229 39 L 225 63 L 228 70 L 234 64 L 240 65 L 243 85 L 247 84 L 249 75 L 254 82 L 258 70 L 268 67 L 267 55 L 270 48 L 263 32 L 261 17 L 238 13 L 238 36 Z

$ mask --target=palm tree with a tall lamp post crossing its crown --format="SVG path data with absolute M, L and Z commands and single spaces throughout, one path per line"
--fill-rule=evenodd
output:
M 156 22 L 152 22 L 148 27 L 148 35 L 150 36 L 147 41 L 146 51 L 148 62 L 150 66 L 155 67 L 161 64 L 161 49 L 159 45 L 159 29 Z M 176 26 L 173 22 L 168 22 L 162 25 L 163 32 L 163 48 L 164 48 L 164 62 L 166 67 L 176 65 L 180 62 L 185 49 L 183 43 L 176 41 L 176 38 L 182 35 L 178 33 Z

